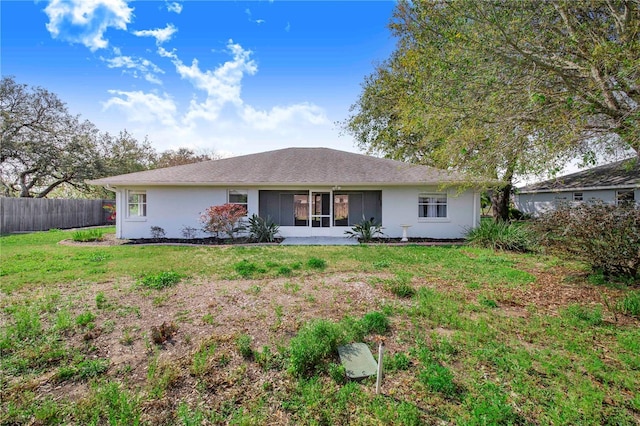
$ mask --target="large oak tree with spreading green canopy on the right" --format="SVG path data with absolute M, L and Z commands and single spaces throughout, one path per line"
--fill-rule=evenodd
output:
M 638 1 L 401 1 L 392 56 L 343 123 L 361 147 L 502 181 L 640 151 Z

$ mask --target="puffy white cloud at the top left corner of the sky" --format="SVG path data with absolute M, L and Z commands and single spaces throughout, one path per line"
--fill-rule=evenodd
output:
M 81 43 L 93 52 L 109 45 L 107 29 L 127 29 L 133 8 L 125 0 L 51 0 L 44 11 L 53 38 Z

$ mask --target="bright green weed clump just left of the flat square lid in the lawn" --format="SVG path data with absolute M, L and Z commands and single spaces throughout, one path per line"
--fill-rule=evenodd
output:
M 300 377 L 314 374 L 342 343 L 344 331 L 339 324 L 327 320 L 305 324 L 289 343 L 289 371 Z

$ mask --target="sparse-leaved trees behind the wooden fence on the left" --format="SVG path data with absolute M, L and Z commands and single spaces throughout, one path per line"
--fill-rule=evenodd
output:
M 4 196 L 100 196 L 88 179 L 216 158 L 187 148 L 158 154 L 126 130 L 114 136 L 72 115 L 42 87 L 0 82 L 0 193 Z

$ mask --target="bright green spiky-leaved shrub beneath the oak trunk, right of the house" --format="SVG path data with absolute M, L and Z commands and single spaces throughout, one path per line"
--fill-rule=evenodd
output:
M 522 223 L 483 220 L 466 235 L 469 245 L 526 253 L 535 247 L 533 230 Z

